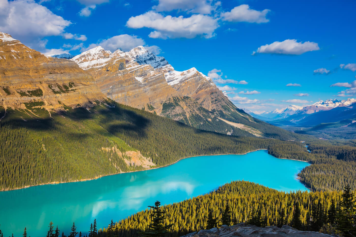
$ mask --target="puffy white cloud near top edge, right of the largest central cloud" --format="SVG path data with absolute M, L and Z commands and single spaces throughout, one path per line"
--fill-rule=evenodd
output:
M 247 4 L 242 4 L 240 6 L 234 7 L 229 12 L 221 13 L 221 17 L 225 21 L 233 21 L 233 22 L 250 22 L 250 23 L 265 23 L 269 20 L 266 19 L 267 13 L 271 11 L 265 9 L 263 11 L 256 11 L 250 9 L 250 6 Z

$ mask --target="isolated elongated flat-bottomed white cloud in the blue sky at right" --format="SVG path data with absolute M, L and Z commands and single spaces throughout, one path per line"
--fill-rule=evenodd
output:
M 297 42 L 297 39 L 286 39 L 285 41 L 273 42 L 271 44 L 262 45 L 257 49 L 257 53 L 273 53 L 273 54 L 294 54 L 300 55 L 309 51 L 319 50 L 318 43 L 315 42 Z M 256 52 L 252 53 L 254 55 Z

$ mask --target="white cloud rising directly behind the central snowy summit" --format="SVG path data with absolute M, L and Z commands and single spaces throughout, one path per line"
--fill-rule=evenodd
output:
M 111 52 L 114 52 L 118 48 L 122 48 L 124 51 L 130 51 L 137 46 L 144 46 L 146 49 L 150 51 L 152 50 L 152 52 L 155 54 L 161 52 L 161 49 L 158 46 L 147 46 L 146 42 L 138 36 L 126 34 L 113 36 L 96 44 L 90 44 L 88 48 L 82 49 L 82 51 L 94 48 L 99 45 L 105 50 L 110 50 Z

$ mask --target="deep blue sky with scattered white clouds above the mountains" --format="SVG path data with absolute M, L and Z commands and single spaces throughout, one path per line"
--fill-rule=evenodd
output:
M 0 0 L 0 31 L 47 54 L 143 45 L 262 112 L 356 97 L 355 9 L 353 0 Z

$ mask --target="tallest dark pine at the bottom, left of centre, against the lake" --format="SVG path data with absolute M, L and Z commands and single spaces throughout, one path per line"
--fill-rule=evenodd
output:
M 151 224 L 147 227 L 145 232 L 140 232 L 141 236 L 145 237 L 153 237 L 153 236 L 164 236 L 168 229 L 173 226 L 171 225 L 164 225 L 164 219 L 166 218 L 166 211 L 162 211 L 161 209 L 161 202 L 156 201 L 155 206 L 148 206 L 153 209 L 152 214 L 150 215 L 152 218 Z

